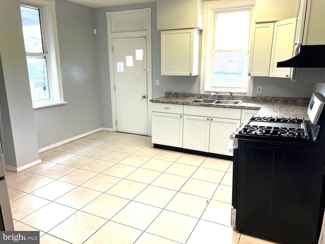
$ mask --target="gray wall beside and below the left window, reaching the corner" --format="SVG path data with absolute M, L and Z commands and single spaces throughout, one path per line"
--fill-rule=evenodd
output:
M 68 104 L 34 110 L 39 148 L 102 127 L 94 10 L 56 0 L 56 18 L 63 95 Z

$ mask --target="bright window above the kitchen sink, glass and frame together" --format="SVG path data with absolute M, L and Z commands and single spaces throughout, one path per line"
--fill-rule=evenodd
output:
M 248 51 L 253 5 L 222 6 L 225 1 L 211 2 L 205 10 L 207 33 L 201 76 L 201 93 L 251 92 L 252 80 L 248 77 Z M 205 57 L 204 57 L 205 56 Z

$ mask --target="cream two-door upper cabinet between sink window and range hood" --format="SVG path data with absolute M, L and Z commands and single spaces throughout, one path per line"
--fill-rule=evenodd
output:
M 289 78 L 291 68 L 277 68 L 277 62 L 294 56 L 297 18 L 256 23 L 252 32 L 248 74 Z

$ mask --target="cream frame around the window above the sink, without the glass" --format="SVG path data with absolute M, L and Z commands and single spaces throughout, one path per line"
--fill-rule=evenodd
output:
M 226 93 L 232 92 L 234 95 L 240 96 L 252 96 L 253 94 L 253 81 L 254 78 L 247 76 L 246 88 L 237 87 L 212 87 L 213 79 L 213 62 L 215 47 L 215 25 L 216 25 L 216 13 L 218 12 L 233 12 L 240 10 L 249 10 L 250 29 L 249 29 L 249 40 L 247 48 L 247 71 L 249 64 L 249 48 L 250 48 L 250 37 L 253 26 L 253 12 L 254 12 L 254 0 L 219 0 L 205 2 L 204 6 L 204 30 L 202 36 L 202 59 L 201 59 L 201 77 L 200 77 L 200 93 L 208 94 L 211 92 Z M 208 82 L 208 83 L 207 83 Z

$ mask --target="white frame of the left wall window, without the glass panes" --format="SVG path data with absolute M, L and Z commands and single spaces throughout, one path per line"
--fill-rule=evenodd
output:
M 32 106 L 36 109 L 65 104 L 67 102 L 64 102 L 63 99 L 55 1 L 23 0 L 20 2 L 20 5 L 36 7 L 40 10 L 43 53 L 26 53 L 26 56 L 46 57 L 50 98 L 32 101 Z

